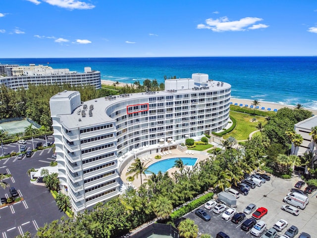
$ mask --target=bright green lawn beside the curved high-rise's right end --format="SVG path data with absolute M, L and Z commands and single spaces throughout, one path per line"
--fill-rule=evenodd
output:
M 261 121 L 262 124 L 266 123 L 264 117 L 260 116 L 251 116 L 249 114 L 239 113 L 230 111 L 230 116 L 237 120 L 236 127 L 223 136 L 224 139 L 227 139 L 229 136 L 233 136 L 236 140 L 247 140 L 249 138 L 249 134 L 252 131 L 257 130 L 256 126 Z M 257 122 L 250 122 L 250 119 L 256 118 Z

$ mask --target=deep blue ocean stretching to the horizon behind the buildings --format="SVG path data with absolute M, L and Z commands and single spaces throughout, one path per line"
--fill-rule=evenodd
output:
M 207 73 L 210 79 L 230 83 L 233 98 L 317 109 L 317 57 L 52 58 L 0 59 L 0 63 L 49 64 L 78 72 L 90 66 L 101 71 L 102 80 L 123 83 Z

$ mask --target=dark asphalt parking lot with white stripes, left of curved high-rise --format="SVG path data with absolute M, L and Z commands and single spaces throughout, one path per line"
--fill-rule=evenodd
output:
M 49 137 L 48 141 L 53 141 Z M 45 139 L 34 139 L 34 143 L 45 143 Z M 32 141 L 25 144 L 32 149 Z M 18 151 L 17 143 L 3 145 L 5 151 Z M 43 185 L 35 185 L 30 182 L 27 175 L 28 169 L 49 166 L 52 161 L 53 148 L 36 151 L 31 157 L 18 160 L 16 157 L 0 160 L 0 174 L 11 174 L 12 177 L 4 181 L 15 187 L 23 200 L 9 206 L 0 208 L 0 237 L 13 238 L 29 231 L 35 235 L 39 227 L 45 223 L 65 216 L 64 212 L 58 210 L 56 202 Z M 8 198 L 9 188 L 0 189 L 0 197 Z

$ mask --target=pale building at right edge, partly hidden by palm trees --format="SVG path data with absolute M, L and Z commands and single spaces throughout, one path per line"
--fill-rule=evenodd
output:
M 295 124 L 295 132 L 303 137 L 303 142 L 296 148 L 295 155 L 303 156 L 306 152 L 315 150 L 317 144 L 315 143 L 315 148 L 313 148 L 314 142 L 312 136 L 309 134 L 314 126 L 317 126 L 317 116 L 310 117 Z M 291 152 L 294 153 L 294 150 L 295 147 L 292 144 Z

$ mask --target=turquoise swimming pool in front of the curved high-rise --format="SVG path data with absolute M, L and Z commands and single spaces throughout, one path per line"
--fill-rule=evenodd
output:
M 166 160 L 161 160 L 159 162 L 156 162 L 148 167 L 148 171 L 153 172 L 154 174 L 158 174 L 159 171 L 162 173 L 165 173 L 169 169 L 171 169 L 175 161 L 178 159 L 181 159 L 183 161 L 184 165 L 191 165 L 194 166 L 196 164 L 197 158 L 188 158 L 188 157 L 178 157 L 178 158 L 170 158 Z M 151 173 L 146 173 L 146 174 L 151 174 Z

